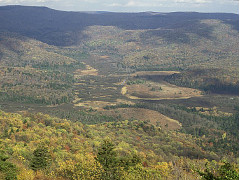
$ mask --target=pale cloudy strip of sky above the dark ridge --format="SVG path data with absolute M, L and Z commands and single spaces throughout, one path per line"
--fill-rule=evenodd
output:
M 0 6 L 3 5 L 47 6 L 68 11 L 239 11 L 238 0 L 0 0 Z

